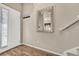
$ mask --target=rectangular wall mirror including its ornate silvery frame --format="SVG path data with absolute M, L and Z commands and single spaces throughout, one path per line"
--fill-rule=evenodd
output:
M 53 6 L 37 11 L 37 31 L 54 32 Z

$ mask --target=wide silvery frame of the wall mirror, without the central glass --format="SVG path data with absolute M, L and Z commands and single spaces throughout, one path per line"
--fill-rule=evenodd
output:
M 51 13 L 48 18 L 50 18 L 50 31 L 45 31 L 44 29 L 44 14 Z M 54 32 L 54 7 L 50 6 L 47 8 L 43 8 L 37 11 L 37 31 L 38 32 L 48 32 L 52 33 Z

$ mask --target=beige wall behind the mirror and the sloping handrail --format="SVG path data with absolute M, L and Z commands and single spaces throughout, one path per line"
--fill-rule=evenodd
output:
M 29 10 L 27 10 L 27 6 L 29 7 Z M 36 30 L 36 12 L 47 6 L 54 6 L 54 33 L 43 33 L 37 32 Z M 63 32 L 59 31 L 60 28 L 70 23 L 77 15 L 79 15 L 79 4 L 24 4 L 23 14 L 24 16 L 26 14 L 31 16 L 31 18 L 24 19 L 23 21 L 24 44 L 58 53 L 79 46 L 78 23 Z

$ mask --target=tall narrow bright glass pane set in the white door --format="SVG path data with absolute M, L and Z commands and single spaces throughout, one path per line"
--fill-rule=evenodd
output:
M 0 8 L 0 48 L 8 46 L 8 14 L 7 9 Z

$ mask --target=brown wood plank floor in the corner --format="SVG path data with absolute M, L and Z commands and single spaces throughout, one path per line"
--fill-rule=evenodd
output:
M 26 45 L 20 45 L 5 51 L 0 56 L 57 56 L 56 54 L 48 53 Z

